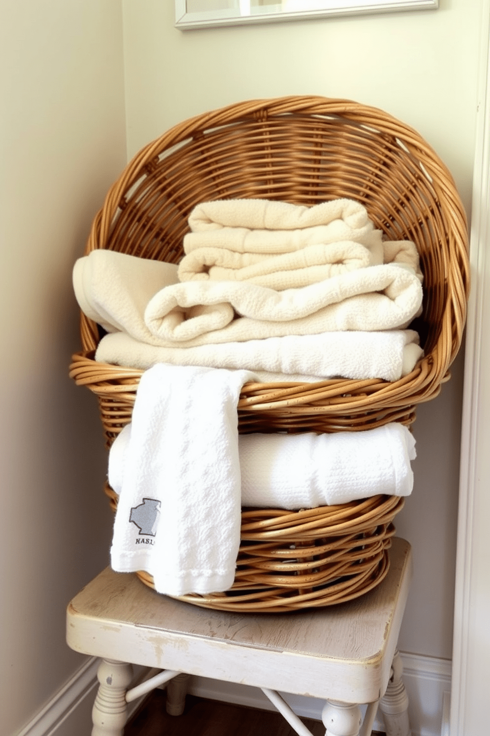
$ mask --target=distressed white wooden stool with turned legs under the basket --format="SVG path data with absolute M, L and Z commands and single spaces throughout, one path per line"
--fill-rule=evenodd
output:
M 181 712 L 185 678 L 175 678 L 190 673 L 262 688 L 300 736 L 311 732 L 276 690 L 325 698 L 325 736 L 368 736 L 378 704 L 387 736 L 410 736 L 396 652 L 411 578 L 408 542 L 394 538 L 390 560 L 386 578 L 361 598 L 287 614 L 198 608 L 107 568 L 67 612 L 68 645 L 102 658 L 92 735 L 121 736 L 126 703 L 164 682 L 175 683 L 170 708 Z M 128 690 L 131 664 L 162 672 Z

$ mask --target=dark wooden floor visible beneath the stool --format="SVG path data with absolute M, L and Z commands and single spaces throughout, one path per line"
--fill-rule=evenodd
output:
M 129 721 L 124 736 L 297 736 L 277 712 L 188 695 L 184 713 L 173 716 L 165 711 L 165 699 L 164 690 L 154 690 Z M 313 736 L 325 736 L 320 721 L 302 721 Z

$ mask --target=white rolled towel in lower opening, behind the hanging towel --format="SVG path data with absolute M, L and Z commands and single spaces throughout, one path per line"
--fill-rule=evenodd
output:
M 120 493 L 131 437 L 127 425 L 109 452 L 109 484 Z M 414 485 L 415 439 L 392 422 L 361 432 L 242 434 L 238 439 L 242 506 L 314 509 Z

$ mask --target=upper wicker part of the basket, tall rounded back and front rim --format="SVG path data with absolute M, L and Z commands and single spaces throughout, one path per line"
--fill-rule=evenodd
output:
M 387 238 L 413 240 L 424 273 L 425 357 L 392 383 L 247 384 L 239 431 L 356 430 L 411 424 L 439 393 L 461 344 L 469 289 L 466 217 L 453 178 L 417 132 L 372 107 L 292 96 L 241 102 L 176 125 L 110 188 L 86 252 L 109 248 L 178 262 L 190 210 L 206 199 L 262 197 L 364 204 Z M 107 442 L 129 421 L 141 372 L 96 364 L 97 326 L 82 315 L 71 376 L 101 402 Z

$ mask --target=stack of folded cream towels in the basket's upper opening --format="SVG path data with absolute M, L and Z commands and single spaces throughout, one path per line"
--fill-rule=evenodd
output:
M 259 381 L 383 378 L 422 356 L 411 241 L 383 241 L 350 199 L 307 208 L 204 202 L 179 266 L 110 250 L 73 269 L 79 305 L 107 336 L 96 360 L 252 370 Z

